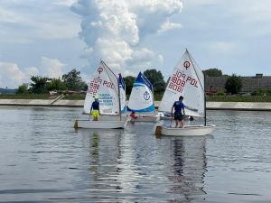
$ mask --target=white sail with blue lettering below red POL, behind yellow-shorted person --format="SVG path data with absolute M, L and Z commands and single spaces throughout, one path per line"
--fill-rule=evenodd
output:
M 117 76 L 101 61 L 92 74 L 84 103 L 84 113 L 90 113 L 94 97 L 98 96 L 99 110 L 102 115 L 118 115 L 118 81 Z

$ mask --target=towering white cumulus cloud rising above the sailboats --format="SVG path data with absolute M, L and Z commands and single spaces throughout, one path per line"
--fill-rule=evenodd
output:
M 137 71 L 139 65 L 161 66 L 163 56 L 142 47 L 141 39 L 181 27 L 169 21 L 182 11 L 181 0 L 79 0 L 71 9 L 82 17 L 79 36 L 88 46 L 83 55 L 91 67 L 99 59 L 123 72 Z

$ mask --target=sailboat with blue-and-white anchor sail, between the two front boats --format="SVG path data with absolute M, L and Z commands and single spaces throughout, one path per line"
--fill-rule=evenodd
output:
M 136 113 L 137 118 L 131 118 L 136 122 L 155 122 L 159 118 L 154 114 L 153 85 L 141 72 L 133 84 L 127 111 Z

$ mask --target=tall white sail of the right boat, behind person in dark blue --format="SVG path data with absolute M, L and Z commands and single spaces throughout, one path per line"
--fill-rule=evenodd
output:
M 173 69 L 158 110 L 171 112 L 174 101 L 180 96 L 186 115 L 204 116 L 204 75 L 188 51 Z

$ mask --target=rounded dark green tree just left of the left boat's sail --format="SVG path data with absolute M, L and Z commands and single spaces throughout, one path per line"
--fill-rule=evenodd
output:
M 69 73 L 62 76 L 62 79 L 66 87 L 70 90 L 81 90 L 85 88 L 86 83 L 82 81 L 80 71 L 76 69 L 71 69 Z

